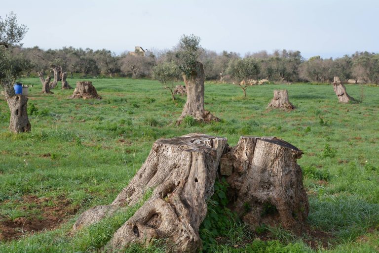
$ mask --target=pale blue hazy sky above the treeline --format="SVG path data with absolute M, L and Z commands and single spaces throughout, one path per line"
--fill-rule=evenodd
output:
M 379 52 L 379 0 L 1 0 L 29 27 L 24 46 L 171 48 L 182 34 L 217 52 Z

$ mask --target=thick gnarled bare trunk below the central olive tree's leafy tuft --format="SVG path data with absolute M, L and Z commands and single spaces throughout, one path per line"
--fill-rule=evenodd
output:
M 204 110 L 204 67 L 200 62 L 196 62 L 195 70 L 189 78 L 183 75 L 187 89 L 187 102 L 184 105 L 182 115 L 176 121 L 180 125 L 187 115 L 192 116 L 197 121 L 219 121 L 209 111 Z

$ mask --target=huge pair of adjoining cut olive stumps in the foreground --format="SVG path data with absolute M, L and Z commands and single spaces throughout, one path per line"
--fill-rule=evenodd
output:
M 226 138 L 201 133 L 158 139 L 114 202 L 82 213 L 73 230 L 139 203 L 151 190 L 106 248 L 122 249 L 162 238 L 167 239 L 169 252 L 195 253 L 201 247 L 198 230 L 215 180 L 227 173 L 230 208 L 246 223 L 282 223 L 301 233 L 306 231 L 308 214 L 302 170 L 296 163 L 301 155 L 299 149 L 274 137 L 241 137 L 234 148 L 227 146 Z

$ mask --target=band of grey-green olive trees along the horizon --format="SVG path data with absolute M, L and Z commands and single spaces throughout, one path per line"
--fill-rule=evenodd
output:
M 178 52 L 174 49 L 152 49 L 145 55 L 135 51 L 133 54 L 102 49 L 63 47 L 61 49 L 43 50 L 35 47 L 14 47 L 12 54 L 30 61 L 26 76 L 35 76 L 37 71 L 50 72 L 51 66 L 62 66 L 69 77 L 130 77 L 151 78 L 152 68 L 163 61 L 178 61 Z M 271 82 L 292 83 L 312 82 L 329 83 L 334 76 L 342 82 L 379 84 L 379 54 L 355 52 L 340 58 L 323 59 L 320 56 L 304 59 L 300 51 L 275 50 L 267 53 L 263 50 L 248 53 L 241 57 L 236 52 L 217 53 L 204 49 L 199 57 L 204 65 L 206 80 L 229 80 L 227 67 L 235 58 L 255 58 L 259 65 L 259 74 L 255 79 L 267 79 Z

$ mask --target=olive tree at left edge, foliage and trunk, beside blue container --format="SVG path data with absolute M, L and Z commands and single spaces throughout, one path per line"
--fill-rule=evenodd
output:
M 16 95 L 13 90 L 14 81 L 30 64 L 22 55 L 14 57 L 11 54 L 12 47 L 21 42 L 27 31 L 25 25 L 17 24 L 13 12 L 5 19 L 0 17 L 0 85 L 4 89 L 10 109 L 9 130 L 16 133 L 31 129 L 27 113 L 28 98 L 21 94 Z

